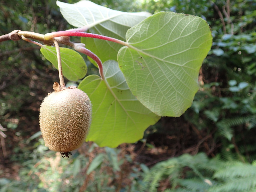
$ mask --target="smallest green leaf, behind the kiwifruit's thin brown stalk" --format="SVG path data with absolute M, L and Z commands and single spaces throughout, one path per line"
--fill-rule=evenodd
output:
M 58 60 L 55 47 L 44 46 L 40 49 L 44 57 L 58 69 Z M 70 81 L 82 79 L 87 73 L 87 66 L 82 56 L 68 48 L 60 47 L 61 66 L 63 76 Z

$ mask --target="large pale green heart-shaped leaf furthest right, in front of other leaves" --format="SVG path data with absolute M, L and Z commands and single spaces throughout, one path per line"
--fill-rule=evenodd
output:
M 161 116 L 180 116 L 198 91 L 198 73 L 212 45 L 206 21 L 159 12 L 126 33 L 118 62 L 136 98 Z

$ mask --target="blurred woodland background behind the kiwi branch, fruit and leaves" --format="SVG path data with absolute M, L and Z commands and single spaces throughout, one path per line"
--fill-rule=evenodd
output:
M 37 47 L 2 42 L 0 123 L 7 137 L 0 136 L 0 191 L 254 191 L 256 2 L 93 2 L 127 12 L 164 10 L 207 20 L 214 40 L 193 105 L 180 118 L 161 118 L 135 144 L 112 149 L 84 143 L 72 158 L 63 159 L 48 151 L 38 134 L 39 106 L 58 71 Z M 0 10 L 1 35 L 72 27 L 54 1 L 1 1 Z M 98 74 L 86 63 L 87 74 Z

